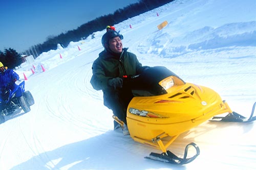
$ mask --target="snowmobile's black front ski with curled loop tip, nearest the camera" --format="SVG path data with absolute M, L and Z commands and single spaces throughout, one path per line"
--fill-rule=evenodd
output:
M 197 154 L 191 158 L 186 158 L 189 146 L 193 146 L 196 149 Z M 192 142 L 192 143 L 189 143 L 186 145 L 183 158 L 179 158 L 178 156 L 176 156 L 174 153 L 172 153 L 170 151 L 167 151 L 166 153 L 162 153 L 162 154 L 157 154 L 157 153 L 152 152 L 149 157 L 144 157 L 144 158 L 157 160 L 157 161 L 161 161 L 161 162 L 165 162 L 165 163 L 183 165 L 183 164 L 189 163 L 189 162 L 193 161 L 194 159 L 196 159 L 199 154 L 200 154 L 199 147 L 197 146 L 196 143 Z

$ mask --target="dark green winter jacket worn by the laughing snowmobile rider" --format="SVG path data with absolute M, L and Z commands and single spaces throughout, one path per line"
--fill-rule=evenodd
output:
M 123 48 L 121 55 L 102 51 L 93 63 L 93 76 L 90 82 L 95 90 L 103 91 L 105 106 L 108 105 L 108 101 L 111 101 L 114 93 L 122 90 L 109 86 L 108 81 L 110 79 L 117 77 L 123 78 L 125 75 L 136 75 L 143 69 L 136 55 L 127 52 L 127 49 Z

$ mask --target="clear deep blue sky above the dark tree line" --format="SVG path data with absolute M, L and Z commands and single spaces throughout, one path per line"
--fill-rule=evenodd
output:
M 18 53 L 32 45 L 77 29 L 83 23 L 113 13 L 139 0 L 11 0 L 0 2 L 0 51 Z

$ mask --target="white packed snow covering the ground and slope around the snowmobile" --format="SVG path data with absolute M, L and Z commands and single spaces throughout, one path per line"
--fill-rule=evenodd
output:
M 214 89 L 248 117 L 256 101 L 255 8 L 254 0 L 177 0 L 115 27 L 142 65 L 165 66 L 186 82 Z M 158 30 L 163 21 L 168 25 Z M 90 84 L 104 32 L 16 70 L 28 78 L 35 104 L 0 125 L 1 170 L 255 169 L 256 123 L 207 121 L 181 134 L 168 150 L 182 157 L 190 142 L 201 150 L 183 166 L 144 159 L 161 151 L 113 131 L 112 111 Z

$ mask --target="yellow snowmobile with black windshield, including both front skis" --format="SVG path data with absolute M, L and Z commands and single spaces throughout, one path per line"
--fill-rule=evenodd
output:
M 150 67 L 137 76 L 124 79 L 124 85 L 132 89 L 134 98 L 127 107 L 127 127 L 131 137 L 140 143 L 150 145 L 162 151 L 151 153 L 148 159 L 174 164 L 186 164 L 193 161 L 200 150 L 195 143 L 189 143 L 183 158 L 167 151 L 170 144 L 183 132 L 194 128 L 206 120 L 226 122 L 251 122 L 256 119 L 232 112 L 228 104 L 214 90 L 186 83 L 166 67 Z M 225 117 L 215 115 L 228 113 Z M 113 116 L 121 127 L 118 117 Z M 167 142 L 163 142 L 163 138 Z M 194 147 L 196 154 L 187 158 L 188 147 Z

